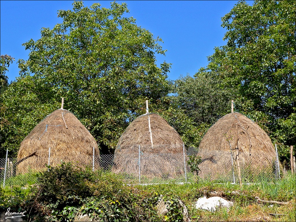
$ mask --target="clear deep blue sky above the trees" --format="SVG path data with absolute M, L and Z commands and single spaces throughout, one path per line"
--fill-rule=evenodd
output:
M 90 7 L 99 2 L 110 8 L 109 1 L 83 1 Z M 155 38 L 159 36 L 167 49 L 165 57 L 156 55 L 157 64 L 164 60 L 173 63 L 168 77 L 176 80 L 180 75 L 194 75 L 205 67 L 207 56 L 213 54 L 215 46 L 225 45 L 222 40 L 226 29 L 221 27 L 221 17 L 238 1 L 116 1 L 126 2 L 136 24 L 149 30 Z M 1 10 L 1 54 L 15 58 L 9 66 L 9 82 L 19 76 L 18 59 L 28 59 L 29 51 L 22 46 L 31 38 L 38 40 L 43 27 L 53 28 L 62 19 L 57 17 L 59 9 L 72 9 L 73 1 L 0 1 Z M 247 1 L 252 5 L 253 1 Z

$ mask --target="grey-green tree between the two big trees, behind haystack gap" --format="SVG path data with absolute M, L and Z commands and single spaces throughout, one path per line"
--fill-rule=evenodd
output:
M 197 125 L 206 123 L 210 126 L 230 112 L 232 93 L 213 76 L 202 68 L 194 77 L 187 75 L 175 81 L 174 104 Z

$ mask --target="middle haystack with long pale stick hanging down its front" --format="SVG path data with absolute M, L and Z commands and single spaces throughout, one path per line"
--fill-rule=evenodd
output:
M 146 113 L 130 123 L 115 149 L 112 171 L 139 175 L 139 149 L 141 176 L 176 178 L 184 173 L 183 141 L 160 115 Z

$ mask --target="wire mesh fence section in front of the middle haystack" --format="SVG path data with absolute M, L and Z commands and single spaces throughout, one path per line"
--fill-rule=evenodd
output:
M 117 147 L 112 171 L 128 184 L 186 182 L 186 152 L 182 144 Z

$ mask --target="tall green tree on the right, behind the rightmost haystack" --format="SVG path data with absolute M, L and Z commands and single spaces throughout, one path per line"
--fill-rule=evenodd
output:
M 237 92 L 236 105 L 281 145 L 295 139 L 295 1 L 240 1 L 222 18 L 225 46 L 207 70 Z

